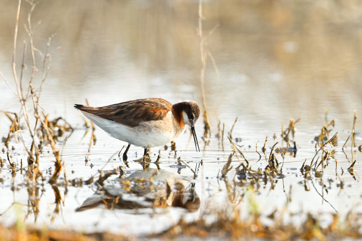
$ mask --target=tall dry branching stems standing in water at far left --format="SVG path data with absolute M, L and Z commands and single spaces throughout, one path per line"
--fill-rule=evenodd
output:
M 3 140 L 4 144 L 7 148 L 9 148 L 9 140 L 12 137 L 15 137 L 16 141 L 20 141 L 23 143 L 24 149 L 28 154 L 28 178 L 33 182 L 37 180 L 38 177 L 42 177 L 42 173 L 39 170 L 39 154 L 42 153 L 42 149 L 45 145 L 49 145 L 51 147 L 52 153 L 55 158 L 55 171 L 53 176 L 50 178 L 50 183 L 55 183 L 56 179 L 59 176 L 60 171 L 62 170 L 62 160 L 60 158 L 58 147 L 56 146 L 57 138 L 63 136 L 65 132 L 71 133 L 72 127 L 61 117 L 54 119 L 52 121 L 49 120 L 48 115 L 45 114 L 44 109 L 40 105 L 40 96 L 43 89 L 43 85 L 46 81 L 46 78 L 49 74 L 50 66 L 51 66 L 51 55 L 52 53 L 58 49 L 50 50 L 51 39 L 54 37 L 52 35 L 46 44 L 45 52 L 41 52 L 39 48 L 35 47 L 33 42 L 33 35 L 35 30 L 41 23 L 40 21 L 35 25 L 31 21 L 31 14 L 33 13 L 34 8 L 37 3 L 34 1 L 26 1 L 25 4 L 30 5 L 30 10 L 28 13 L 27 23 L 25 24 L 25 30 L 28 33 L 28 42 L 24 41 L 24 50 L 23 50 L 23 58 L 21 63 L 21 71 L 20 77 L 16 71 L 16 45 L 17 45 L 17 32 L 18 32 L 18 24 L 19 24 L 19 15 L 20 15 L 20 7 L 21 0 L 18 2 L 17 16 L 16 16 L 16 26 L 15 26 L 15 34 L 14 34 L 14 47 L 13 47 L 13 77 L 14 84 L 16 86 L 16 91 L 12 88 L 7 78 L 0 74 L 4 78 L 5 83 L 9 86 L 9 88 L 13 91 L 14 95 L 16 95 L 19 99 L 19 103 L 21 106 L 21 110 L 19 114 L 10 113 L 7 111 L 3 111 L 3 113 L 9 118 L 11 121 L 10 130 L 8 136 Z M 27 64 L 25 63 L 27 47 L 30 45 L 30 53 L 31 53 L 31 73 L 27 83 L 24 80 L 24 71 L 27 68 Z M 39 72 L 38 67 L 36 66 L 36 57 L 40 56 L 42 59 L 42 66 L 40 68 L 41 79 L 40 84 L 38 86 L 34 85 L 35 73 Z M 33 108 L 30 110 L 28 108 L 28 103 L 31 103 Z M 31 119 L 30 112 L 33 111 L 34 119 Z M 59 124 L 59 121 L 63 121 L 63 124 Z M 25 123 L 24 127 L 20 125 L 20 123 Z M 30 146 L 27 146 L 23 136 L 29 135 L 32 139 Z M 22 167 L 20 168 L 22 170 Z

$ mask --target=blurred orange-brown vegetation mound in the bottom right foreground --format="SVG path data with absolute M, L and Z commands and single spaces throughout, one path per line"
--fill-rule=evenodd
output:
M 285 222 L 292 216 L 299 214 L 291 214 L 290 212 L 281 211 L 279 215 L 286 214 L 289 217 L 281 217 L 275 215 L 277 210 L 273 211 L 268 217 L 273 220 L 272 224 L 265 225 L 261 221 L 259 215 L 251 214 L 249 218 L 241 218 L 238 210 L 222 210 L 216 212 L 216 220 L 211 223 L 206 215 L 202 215 L 200 219 L 192 222 L 186 222 L 184 219 L 159 234 L 152 234 L 151 238 L 163 238 L 172 240 L 174 237 L 182 237 L 185 239 L 192 237 L 200 238 L 220 238 L 232 240 L 343 240 L 347 237 L 351 239 L 359 239 L 362 237 L 360 232 L 361 215 L 349 212 L 346 223 L 341 220 L 338 215 L 331 214 L 332 223 L 328 226 L 321 225 L 322 218 L 320 215 L 307 213 L 304 221 L 300 225 L 293 222 Z

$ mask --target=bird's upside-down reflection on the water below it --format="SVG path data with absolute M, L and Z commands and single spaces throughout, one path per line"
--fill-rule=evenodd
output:
M 104 206 L 107 209 L 134 209 L 136 214 L 142 214 L 142 208 L 146 212 L 146 208 L 157 207 L 182 207 L 195 212 L 200 207 L 200 198 L 195 183 L 185 187 L 185 182 L 165 170 L 136 171 L 97 190 L 75 211 Z

